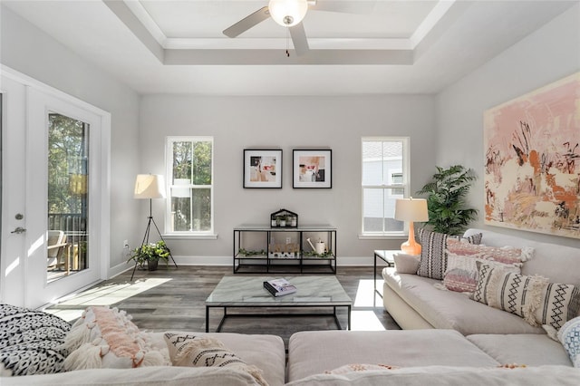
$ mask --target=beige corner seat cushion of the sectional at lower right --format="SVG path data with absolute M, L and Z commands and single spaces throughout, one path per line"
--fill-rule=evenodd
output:
M 540 366 L 561 364 L 572 366 L 568 354 L 559 342 L 547 335 L 537 333 L 522 334 L 475 334 L 467 337 L 496 361 Z

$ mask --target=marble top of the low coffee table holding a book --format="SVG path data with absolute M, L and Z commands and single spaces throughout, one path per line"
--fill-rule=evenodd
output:
M 264 282 L 284 277 L 296 286 L 296 292 L 282 296 L 273 296 Z M 209 306 L 314 306 L 314 305 L 350 305 L 352 300 L 344 292 L 336 276 L 224 276 L 214 291 L 209 294 L 206 305 Z

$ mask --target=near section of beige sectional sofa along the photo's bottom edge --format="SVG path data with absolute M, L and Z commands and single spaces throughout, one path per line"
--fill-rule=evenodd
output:
M 180 334 L 183 334 L 180 332 Z M 156 333 L 162 340 L 161 333 Z M 151 366 L 91 369 L 2 378 L 2 385 L 577 385 L 580 370 L 545 361 L 556 350 L 537 353 L 519 367 L 484 352 L 453 330 L 324 331 L 295 333 L 287 362 L 275 335 L 189 333 L 212 336 L 248 365 L 261 370 L 260 383 L 228 366 Z M 535 346 L 527 346 L 534 350 Z M 534 355 L 528 355 L 527 359 Z M 541 358 L 540 358 L 541 357 Z M 543 358 L 543 359 L 542 359 Z M 564 361 L 562 356 L 558 358 Z M 507 364 L 511 366 L 507 366 Z M 510 368 L 511 367 L 511 368 Z

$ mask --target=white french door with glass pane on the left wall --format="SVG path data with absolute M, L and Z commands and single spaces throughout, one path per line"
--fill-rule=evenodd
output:
M 110 118 L 42 85 L 2 81 L 0 300 L 36 308 L 106 276 Z

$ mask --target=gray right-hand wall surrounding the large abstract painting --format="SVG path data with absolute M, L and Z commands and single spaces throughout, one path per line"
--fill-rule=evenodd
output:
M 579 20 L 580 5 L 575 5 L 437 96 L 437 163 L 462 164 L 476 171 L 478 180 L 469 202 L 480 214 L 484 205 L 483 112 L 580 71 Z M 485 227 L 482 216 L 474 226 Z M 486 228 L 567 246 L 579 245 L 572 238 Z

